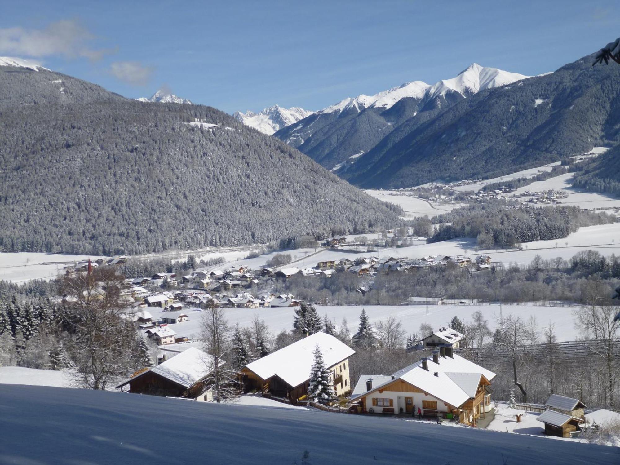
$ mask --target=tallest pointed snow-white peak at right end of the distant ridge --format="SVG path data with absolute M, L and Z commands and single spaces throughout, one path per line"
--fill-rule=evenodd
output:
M 428 89 L 430 98 L 445 95 L 447 92 L 458 92 L 466 97 L 467 95 L 476 94 L 476 92 L 492 89 L 494 87 L 505 86 L 521 79 L 527 79 L 519 73 L 509 73 L 497 68 L 487 68 L 477 63 L 472 63 L 466 69 L 461 71 L 455 78 L 442 79 L 433 84 Z

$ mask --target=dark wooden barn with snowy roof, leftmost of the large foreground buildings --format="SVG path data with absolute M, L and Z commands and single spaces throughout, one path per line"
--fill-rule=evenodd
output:
M 129 392 L 132 394 L 212 401 L 213 393 L 207 382 L 212 371 L 213 358 L 190 347 L 160 365 L 135 374 L 133 378 L 119 384 L 117 389 L 123 391 L 123 387 L 129 384 Z

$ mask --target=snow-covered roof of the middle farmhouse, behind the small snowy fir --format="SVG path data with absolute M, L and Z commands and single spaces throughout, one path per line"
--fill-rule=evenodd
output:
M 246 368 L 262 379 L 277 375 L 290 386 L 296 387 L 310 377 L 314 363 L 314 348 L 317 345 L 321 348 L 327 368 L 355 353 L 355 350 L 334 336 L 319 331 L 249 363 Z

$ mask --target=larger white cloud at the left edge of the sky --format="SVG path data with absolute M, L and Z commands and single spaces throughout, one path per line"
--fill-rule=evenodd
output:
M 91 48 L 89 42 L 93 39 L 94 36 L 73 19 L 53 22 L 45 29 L 0 28 L 0 53 L 36 57 L 62 55 L 98 60 L 112 51 Z

